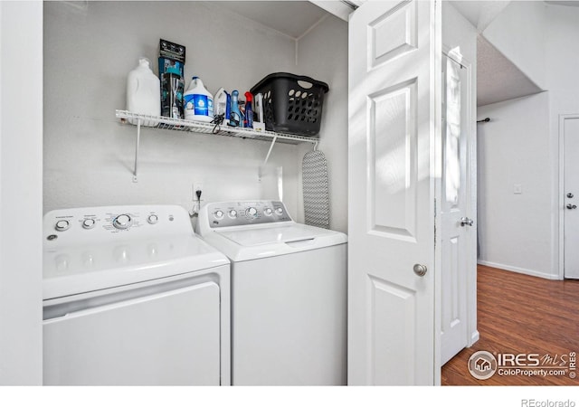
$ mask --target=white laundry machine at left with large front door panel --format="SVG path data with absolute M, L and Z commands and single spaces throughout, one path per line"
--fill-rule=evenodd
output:
M 231 383 L 229 260 L 176 205 L 43 219 L 43 383 Z

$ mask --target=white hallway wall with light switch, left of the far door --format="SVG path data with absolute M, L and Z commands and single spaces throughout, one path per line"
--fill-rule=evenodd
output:
M 549 93 L 478 108 L 479 263 L 556 279 Z

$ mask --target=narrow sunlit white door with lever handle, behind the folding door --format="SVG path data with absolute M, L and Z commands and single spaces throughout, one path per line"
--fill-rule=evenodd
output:
M 468 345 L 467 68 L 461 55 L 442 58 L 441 364 Z

